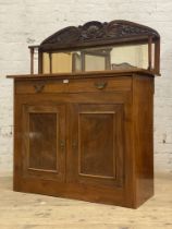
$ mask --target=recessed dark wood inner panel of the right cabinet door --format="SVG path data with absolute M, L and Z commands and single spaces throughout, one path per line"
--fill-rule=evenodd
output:
M 112 178 L 114 113 L 81 112 L 78 119 L 79 174 Z

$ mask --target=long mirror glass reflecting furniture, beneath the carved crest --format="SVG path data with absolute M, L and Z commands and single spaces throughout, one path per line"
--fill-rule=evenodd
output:
M 153 69 L 152 44 L 151 68 Z M 87 48 L 77 51 L 44 52 L 44 73 L 148 69 L 148 44 Z

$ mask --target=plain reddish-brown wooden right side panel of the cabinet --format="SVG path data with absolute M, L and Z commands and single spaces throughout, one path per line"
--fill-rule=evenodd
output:
M 153 194 L 153 77 L 133 76 L 135 207 Z

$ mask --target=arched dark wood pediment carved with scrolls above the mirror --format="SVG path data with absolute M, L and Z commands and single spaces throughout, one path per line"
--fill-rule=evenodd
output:
M 116 40 L 139 39 L 140 37 L 159 38 L 159 34 L 147 26 L 127 21 L 100 23 L 88 22 L 78 27 L 65 27 L 40 44 L 40 49 L 75 48 L 82 46 L 109 45 Z

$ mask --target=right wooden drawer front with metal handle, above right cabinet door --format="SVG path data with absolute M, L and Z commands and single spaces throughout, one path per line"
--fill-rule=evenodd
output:
M 69 83 L 70 93 L 131 91 L 131 87 L 132 79 L 128 76 L 73 80 Z

